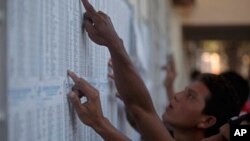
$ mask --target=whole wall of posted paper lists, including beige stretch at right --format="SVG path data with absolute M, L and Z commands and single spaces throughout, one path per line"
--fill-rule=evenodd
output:
M 170 30 L 170 4 L 162 0 L 90 2 L 111 17 L 162 114 L 167 98 L 161 67 L 170 46 L 175 45 L 170 34 L 179 32 Z M 84 11 L 80 0 L 8 0 L 9 141 L 101 140 L 80 123 L 67 100 L 73 85 L 66 75 L 68 69 L 100 91 L 104 115 L 132 140 L 138 140 L 138 134 L 126 121 L 122 102 L 115 97 L 115 86 L 107 77 L 107 49 L 91 42 L 82 32 Z M 176 38 L 180 39 L 179 35 Z

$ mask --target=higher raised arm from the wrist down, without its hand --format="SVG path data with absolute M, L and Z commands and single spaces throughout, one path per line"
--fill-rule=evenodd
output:
M 148 141 L 171 141 L 172 138 L 158 117 L 149 92 L 137 74 L 122 41 L 109 48 L 117 90 L 134 117 L 140 133 Z

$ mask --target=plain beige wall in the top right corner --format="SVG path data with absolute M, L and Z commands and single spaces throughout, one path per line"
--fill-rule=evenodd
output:
M 184 25 L 249 25 L 249 0 L 196 0 L 189 13 L 183 13 Z

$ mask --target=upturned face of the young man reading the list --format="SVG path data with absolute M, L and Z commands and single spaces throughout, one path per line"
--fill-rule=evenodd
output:
M 208 96 L 209 90 L 202 82 L 193 82 L 170 100 L 162 116 L 164 123 L 174 128 L 196 128 Z

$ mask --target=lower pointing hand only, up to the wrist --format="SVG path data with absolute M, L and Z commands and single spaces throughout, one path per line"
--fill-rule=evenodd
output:
M 75 82 L 73 91 L 68 95 L 75 108 L 79 119 L 86 125 L 97 128 L 105 118 L 102 113 L 99 92 L 83 78 L 79 78 L 74 72 L 68 71 L 68 75 Z M 85 96 L 87 101 L 81 103 L 80 97 Z

